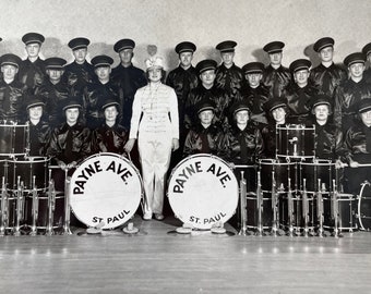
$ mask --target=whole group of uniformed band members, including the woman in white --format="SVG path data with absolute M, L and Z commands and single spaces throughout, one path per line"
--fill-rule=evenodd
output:
M 28 33 L 22 40 L 25 60 L 12 53 L 0 59 L 0 120 L 28 120 L 29 155 L 50 157 L 62 170 L 73 171 L 92 154 L 137 148 L 145 220 L 164 219 L 166 175 L 181 159 L 202 152 L 232 167 L 256 164 L 275 157 L 276 125 L 314 124 L 315 156 L 355 168 L 344 177 L 349 192 L 370 179 L 369 169 L 356 168 L 371 163 L 371 44 L 347 56 L 343 66 L 333 62 L 334 39 L 321 38 L 313 46 L 320 65 L 298 59 L 287 69 L 282 41 L 263 47 L 267 66 L 242 68 L 234 62 L 235 41 L 216 46 L 220 64 L 206 59 L 195 68 L 196 46 L 183 41 L 175 48 L 179 66 L 166 76 L 156 54 L 145 61 L 145 72 L 132 64 L 131 39 L 115 44 L 116 68 L 108 56 L 86 60 L 87 38 L 68 44 L 70 64 L 39 58 L 43 35 Z

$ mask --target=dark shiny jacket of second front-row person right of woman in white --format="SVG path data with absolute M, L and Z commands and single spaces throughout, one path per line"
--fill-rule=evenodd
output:
M 244 139 L 248 150 L 246 162 L 241 158 L 240 138 Z M 249 122 L 243 131 L 234 125 L 223 135 L 218 146 L 218 156 L 236 164 L 254 164 L 261 158 L 263 149 L 261 131 L 254 123 Z

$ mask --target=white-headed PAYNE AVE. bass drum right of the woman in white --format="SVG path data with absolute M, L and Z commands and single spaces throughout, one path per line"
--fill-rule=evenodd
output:
M 176 217 L 208 230 L 236 212 L 238 183 L 227 162 L 212 155 L 193 155 L 172 170 L 167 192 Z

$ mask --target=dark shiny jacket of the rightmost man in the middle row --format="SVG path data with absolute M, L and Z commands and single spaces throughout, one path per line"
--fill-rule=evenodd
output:
M 371 84 L 368 84 L 364 78 L 359 83 L 355 83 L 349 78 L 335 89 L 334 95 L 334 122 L 336 125 L 343 125 L 343 132 L 345 133 L 355 124 L 355 106 L 360 100 L 371 97 Z

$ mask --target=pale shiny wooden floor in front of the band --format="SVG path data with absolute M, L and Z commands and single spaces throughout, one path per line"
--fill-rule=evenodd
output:
M 4 236 L 0 293 L 371 293 L 371 233 L 334 237 L 176 234 Z

